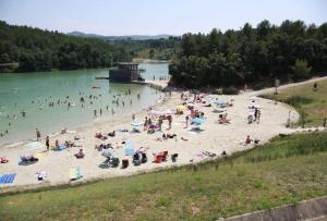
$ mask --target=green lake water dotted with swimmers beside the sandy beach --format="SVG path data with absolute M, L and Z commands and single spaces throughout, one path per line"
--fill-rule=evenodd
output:
M 168 77 L 168 64 L 143 63 L 140 67 L 145 69 L 145 78 Z M 0 145 L 35 139 L 36 127 L 45 135 L 131 114 L 164 96 L 147 86 L 110 83 L 96 76 L 108 76 L 108 69 L 0 74 Z M 125 95 L 129 89 L 131 95 Z M 97 98 L 89 99 L 90 95 Z M 85 100 L 83 107 L 81 97 Z M 114 102 L 118 98 L 119 106 Z M 49 106 L 51 102 L 53 107 Z

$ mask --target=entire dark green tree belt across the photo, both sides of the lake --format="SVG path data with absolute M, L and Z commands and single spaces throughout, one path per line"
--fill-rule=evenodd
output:
M 272 86 L 324 75 L 327 23 L 269 21 L 225 33 L 184 34 L 168 39 L 106 40 L 0 23 L 0 70 L 13 72 L 110 66 L 133 58 L 170 60 L 171 83 L 189 88 Z

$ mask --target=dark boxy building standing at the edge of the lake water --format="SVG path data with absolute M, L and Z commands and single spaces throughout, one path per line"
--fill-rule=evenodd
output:
M 137 63 L 120 62 L 116 67 L 109 70 L 110 82 L 130 83 L 133 81 L 144 81 Z

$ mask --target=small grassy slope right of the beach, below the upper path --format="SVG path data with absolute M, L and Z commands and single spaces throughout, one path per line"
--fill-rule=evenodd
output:
M 293 106 L 301 116 L 296 125 L 322 126 L 324 119 L 327 118 L 327 79 L 318 82 L 316 90 L 313 83 L 263 97 Z

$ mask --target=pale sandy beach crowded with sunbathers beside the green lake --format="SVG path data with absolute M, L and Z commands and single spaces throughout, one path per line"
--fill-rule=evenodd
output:
M 232 107 L 225 108 L 228 113 L 228 119 L 231 120 L 230 124 L 218 123 L 219 113 L 216 111 L 216 106 L 204 107 L 203 103 L 195 102 L 194 108 L 204 112 L 205 116 L 205 123 L 201 125 L 203 130 L 201 132 L 190 131 L 191 126 L 185 127 L 185 115 L 189 114 L 190 111 L 184 111 L 182 115 L 172 115 L 172 127 L 170 130 L 168 128 L 168 122 L 164 121 L 162 132 L 156 132 L 154 134 L 147 134 L 143 131 L 143 126 L 140 126 L 141 133 L 120 132 L 120 130 L 132 131 L 133 128 L 131 125 L 132 116 L 124 116 L 110 122 L 95 123 L 92 126 L 78 128 L 74 133 L 59 134 L 50 138 L 50 145 L 55 146 L 56 139 L 59 139 L 60 143 L 64 143 L 64 140 L 74 140 L 74 136 L 81 137 L 81 139 L 75 143 L 82 145 L 85 152 L 84 159 L 76 159 L 74 154 L 78 152 L 80 147 L 72 147 L 61 151 L 50 150 L 48 152 L 40 152 L 38 155 L 38 162 L 29 165 L 20 165 L 17 159 L 25 152 L 23 145 L 19 145 L 14 148 L 1 147 L 0 157 L 7 157 L 9 162 L 0 164 L 0 174 L 15 173 L 16 176 L 11 184 L 0 184 L 0 192 L 7 192 L 15 187 L 23 188 L 26 186 L 72 183 L 69 172 L 72 168 L 80 168 L 83 175 L 82 179 L 73 182 L 75 183 L 149 172 L 170 165 L 196 163 L 210 159 L 201 154 L 203 151 L 209 151 L 220 156 L 223 150 L 227 151 L 227 154 L 231 154 L 252 148 L 253 145 L 244 145 L 247 135 L 253 139 L 259 139 L 259 144 L 262 144 L 278 134 L 293 133 L 295 130 L 287 128 L 286 122 L 289 111 L 291 111 L 291 120 L 296 121 L 299 118 L 296 111 L 287 105 L 276 105 L 275 101 L 263 98 L 255 98 L 255 103 L 259 106 L 262 112 L 261 122 L 247 123 L 250 100 L 253 99 L 253 96 L 262 91 L 267 91 L 267 89 L 243 93 L 237 96 L 208 95 L 204 98 L 205 100 L 216 100 L 216 98 L 220 101 L 233 100 Z M 154 107 L 154 109 L 157 111 L 166 111 L 168 109 L 174 111 L 175 107 L 181 103 L 181 93 L 173 91 L 171 96 L 168 95 L 166 100 Z M 143 122 L 145 116 L 148 116 L 148 112 L 144 110 L 135 113 L 135 115 L 136 121 Z M 112 131 L 116 131 L 116 136 L 109 137 L 107 140 L 100 140 L 95 137 L 96 133 L 108 134 Z M 162 133 L 177 134 L 177 137 L 161 139 Z M 181 137 L 187 140 L 183 140 Z M 125 156 L 125 146 L 122 142 L 131 143 L 134 150 L 141 147 L 145 148 L 148 161 L 137 167 L 133 165 L 132 156 Z M 41 143 L 45 144 L 45 140 Z M 114 157 L 120 158 L 120 160 L 129 159 L 130 165 L 126 169 L 121 169 L 121 167 L 102 169 L 99 167 L 106 158 L 101 156 L 101 151 L 95 149 L 95 145 L 108 143 L 113 146 L 113 149 L 110 150 Z M 162 163 L 154 163 L 154 155 L 160 151 L 168 151 L 168 160 Z M 179 155 L 177 162 L 172 162 L 170 159 L 170 156 L 173 154 Z M 45 182 L 37 181 L 35 177 L 35 174 L 39 171 L 47 173 Z

